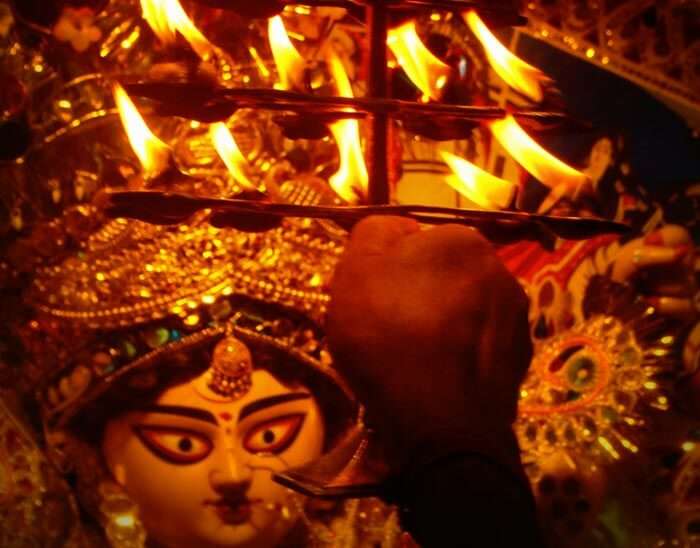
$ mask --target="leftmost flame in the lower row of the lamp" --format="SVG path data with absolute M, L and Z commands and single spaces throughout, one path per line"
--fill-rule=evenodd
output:
M 157 176 L 168 166 L 170 148 L 148 129 L 123 87 L 115 84 L 112 93 L 131 148 L 143 166 L 144 176 Z

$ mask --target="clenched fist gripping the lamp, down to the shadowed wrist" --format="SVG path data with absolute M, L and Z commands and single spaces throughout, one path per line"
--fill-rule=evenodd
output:
M 331 286 L 336 367 L 395 468 L 473 449 L 518 466 L 510 429 L 532 345 L 528 300 L 476 231 L 371 217 Z

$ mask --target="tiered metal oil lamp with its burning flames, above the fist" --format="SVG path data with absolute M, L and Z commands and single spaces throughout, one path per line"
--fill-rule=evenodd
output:
M 540 127 L 566 123 L 563 113 L 530 109 L 507 111 L 495 106 L 442 101 L 443 96 L 452 98 L 460 94 L 458 91 L 455 93 L 452 82 L 456 71 L 431 53 L 417 33 L 414 17 L 427 10 L 460 14 L 485 49 L 494 71 L 530 101 L 542 103 L 545 100 L 547 89 L 551 87 L 549 79 L 511 54 L 477 14 L 478 11 L 497 23 L 519 23 L 520 18 L 513 15 L 512 6 L 482 6 L 462 0 L 361 4 L 319 2 L 319 6 L 364 11 L 368 35 L 364 52 L 367 94 L 354 97 L 343 64 L 330 47 L 323 48 L 324 57 L 335 82 L 337 96 L 311 93 L 313 85 L 309 85 L 309 82 L 315 67 L 310 68 L 297 51 L 279 15 L 287 3 L 262 2 L 255 9 L 236 2 L 199 0 L 198 3 L 232 11 L 243 17 L 267 18 L 270 49 L 279 77 L 275 89 L 227 87 L 201 70 L 198 74 L 190 73 L 184 81 L 166 78 L 127 83 L 125 88 L 132 95 L 151 99 L 159 114 L 182 116 L 202 123 L 217 122 L 210 132 L 215 148 L 234 179 L 248 192 L 222 199 L 173 192 L 177 187 L 172 185 L 165 185 L 164 190 L 163 185 L 151 184 L 138 191 L 111 192 L 105 205 L 112 215 L 154 223 L 175 223 L 199 209 L 208 208 L 214 212 L 212 218 L 218 220 L 216 224 L 264 229 L 274 226 L 285 216 L 326 218 L 347 227 L 366 215 L 393 214 L 410 216 L 424 223 L 458 222 L 476 226 L 498 242 L 537 239 L 550 244 L 557 236 L 586 238 L 599 232 L 624 230 L 619 224 L 601 219 L 552 217 L 515 211 L 512 208 L 516 193 L 513 183 L 490 175 L 449 152 L 442 153 L 453 170 L 447 182 L 465 196 L 468 203 L 475 206 L 474 209 L 390 205 L 392 183 L 397 178 L 391 161 L 397 154 L 392 137 L 398 130 L 396 122 L 416 135 L 439 141 L 464 139 L 475 127 L 486 127 L 520 165 L 551 189 L 539 213 L 546 212 L 562 196 L 576 196 L 585 191 L 586 176 L 545 151 L 520 125 Z M 230 64 L 226 54 L 204 37 L 176 0 L 143 0 L 142 8 L 145 19 L 163 41 L 174 41 L 179 32 L 203 62 L 212 66 Z M 398 24 L 392 26 L 397 21 Z M 396 61 L 389 62 L 388 50 Z M 396 62 L 422 93 L 419 100 L 392 97 L 389 66 L 396 66 Z M 122 91 L 119 95 L 126 97 Z M 318 139 L 331 134 L 339 147 L 340 167 L 328 183 L 339 199 L 332 204 L 298 205 L 280 203 L 283 200 L 280 200 L 274 188 L 265 188 L 264 193 L 259 192 L 262 189 L 258 188 L 258 192 L 251 194 L 249 191 L 255 185 L 245 175 L 245 157 L 225 124 L 221 123 L 243 108 L 279 112 L 274 121 L 284 136 L 290 139 Z M 122 116 L 127 127 L 143 126 L 142 121 L 132 123 L 125 120 L 123 109 Z M 364 121 L 368 167 L 365 167 L 360 145 L 360 120 Z M 157 138 L 151 135 L 152 138 L 144 141 L 143 138 L 132 137 L 133 132 L 133 128 L 129 130 L 130 140 L 134 148 L 141 148 L 139 157 L 146 179 L 149 173 L 153 179 L 154 169 L 160 169 L 161 182 L 172 179 L 172 169 L 153 167 L 153 164 L 162 166 L 164 162 L 168 163 L 165 159 L 168 153 L 158 145 Z M 140 133 L 143 135 L 143 131 Z M 150 152 L 144 153 L 144 147 Z M 164 175 L 163 171 L 168 174 Z

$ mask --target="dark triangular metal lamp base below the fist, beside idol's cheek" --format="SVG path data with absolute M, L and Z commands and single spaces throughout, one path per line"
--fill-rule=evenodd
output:
M 318 460 L 274 479 L 304 495 L 328 499 L 388 495 L 391 484 L 376 438 L 359 423 Z

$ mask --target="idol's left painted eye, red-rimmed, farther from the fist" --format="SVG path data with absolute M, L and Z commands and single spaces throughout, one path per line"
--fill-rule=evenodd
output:
M 194 464 L 211 453 L 214 444 L 204 434 L 173 426 L 134 426 L 141 442 L 156 456 L 172 464 Z

